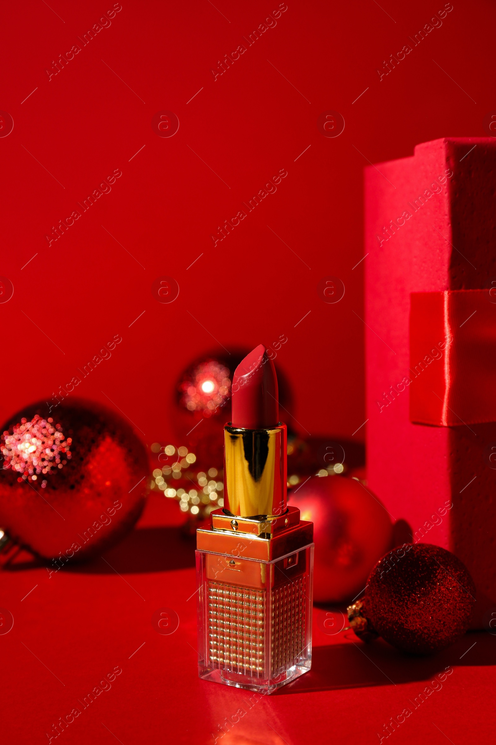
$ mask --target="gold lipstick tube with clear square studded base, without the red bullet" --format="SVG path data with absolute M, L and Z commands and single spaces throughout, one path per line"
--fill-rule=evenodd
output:
M 286 502 L 286 425 L 225 431 L 225 507 L 196 531 L 199 676 L 271 693 L 312 662 L 313 523 Z

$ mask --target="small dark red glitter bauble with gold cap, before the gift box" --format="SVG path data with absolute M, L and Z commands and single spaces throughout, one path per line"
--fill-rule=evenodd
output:
M 474 604 L 474 581 L 460 559 L 440 546 L 405 543 L 377 562 L 348 618 L 364 641 L 379 635 L 405 652 L 431 654 L 466 633 Z

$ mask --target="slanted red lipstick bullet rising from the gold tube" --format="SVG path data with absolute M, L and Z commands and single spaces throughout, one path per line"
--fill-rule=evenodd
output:
M 263 344 L 236 367 L 232 391 L 233 427 L 269 429 L 278 424 L 276 371 Z

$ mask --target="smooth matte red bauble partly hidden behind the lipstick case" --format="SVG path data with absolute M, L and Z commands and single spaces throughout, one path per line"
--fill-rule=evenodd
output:
M 365 486 L 344 476 L 312 476 L 289 495 L 314 524 L 314 600 L 338 603 L 364 589 L 370 569 L 391 545 L 391 522 Z

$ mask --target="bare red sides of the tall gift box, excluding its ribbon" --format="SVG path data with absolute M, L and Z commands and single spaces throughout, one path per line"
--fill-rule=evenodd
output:
M 448 139 L 424 143 L 410 158 L 367 171 L 369 484 L 395 519 L 410 524 L 414 541 L 442 545 L 466 564 L 477 586 L 476 627 L 486 612 L 496 611 L 496 472 L 489 460 L 496 424 L 410 422 L 409 388 L 422 385 L 423 373 L 410 371 L 409 314 L 412 292 L 479 288 L 488 288 L 492 310 L 495 253 L 488 246 L 496 242 L 495 166 L 496 140 Z M 408 210 L 409 218 L 396 219 Z M 386 232 L 383 226 L 393 217 L 396 229 Z M 462 336 L 470 333 L 470 320 L 460 329 L 463 323 L 460 318 L 456 332 Z M 477 323 L 473 329 L 476 339 Z M 473 362 L 474 349 L 466 354 Z M 443 364 L 437 358 L 431 367 Z M 462 418 L 466 404 L 463 413 L 454 409 Z

